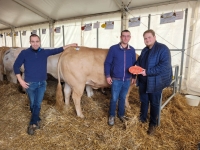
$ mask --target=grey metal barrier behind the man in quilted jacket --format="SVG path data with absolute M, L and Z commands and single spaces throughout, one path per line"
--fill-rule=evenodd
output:
M 175 94 L 177 93 L 177 87 L 178 87 L 178 80 L 179 80 L 179 76 L 178 76 L 178 72 L 179 72 L 179 66 L 178 65 L 174 65 L 172 66 L 172 68 L 174 68 L 174 73 L 173 73 L 173 78 L 172 78 L 172 82 L 170 84 L 173 85 L 173 93 L 172 95 L 166 100 L 166 102 L 164 102 L 164 104 L 162 104 L 162 95 L 160 98 L 160 108 L 159 108 L 159 114 L 158 114 L 158 126 L 160 125 L 160 117 L 161 117 L 161 110 L 165 107 L 165 105 L 167 105 L 169 103 L 169 101 L 175 96 Z

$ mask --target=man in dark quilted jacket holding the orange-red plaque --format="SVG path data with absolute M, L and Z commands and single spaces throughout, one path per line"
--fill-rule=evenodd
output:
M 147 30 L 143 34 L 146 47 L 142 50 L 136 65 L 144 68 L 138 75 L 137 85 L 141 101 L 140 121 L 147 121 L 150 103 L 150 122 L 147 133 L 152 134 L 157 126 L 162 90 L 172 80 L 171 54 L 168 47 L 156 41 L 155 32 Z

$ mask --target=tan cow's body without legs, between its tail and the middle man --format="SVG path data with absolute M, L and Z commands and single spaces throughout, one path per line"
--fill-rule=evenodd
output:
M 66 49 L 60 58 L 61 78 L 71 86 L 88 84 L 94 88 L 108 86 L 104 75 L 104 61 L 108 49 L 73 47 Z

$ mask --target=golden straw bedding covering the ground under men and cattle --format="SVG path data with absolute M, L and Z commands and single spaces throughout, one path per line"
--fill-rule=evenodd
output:
M 188 150 L 197 149 L 200 142 L 200 107 L 186 104 L 177 94 L 162 110 L 161 126 L 153 136 L 147 135 L 148 123 L 138 121 L 140 102 L 138 89 L 130 94 L 130 110 L 126 110 L 126 123 L 115 119 L 108 126 L 110 91 L 99 90 L 88 98 L 82 96 L 84 119 L 76 116 L 73 100 L 64 112 L 55 109 L 57 81 L 48 80 L 47 91 L 41 108 L 41 129 L 33 136 L 27 134 L 30 118 L 28 98 L 18 90 L 18 85 L 0 82 L 0 149 L 131 149 L 131 150 Z M 171 89 L 164 90 L 164 101 Z

